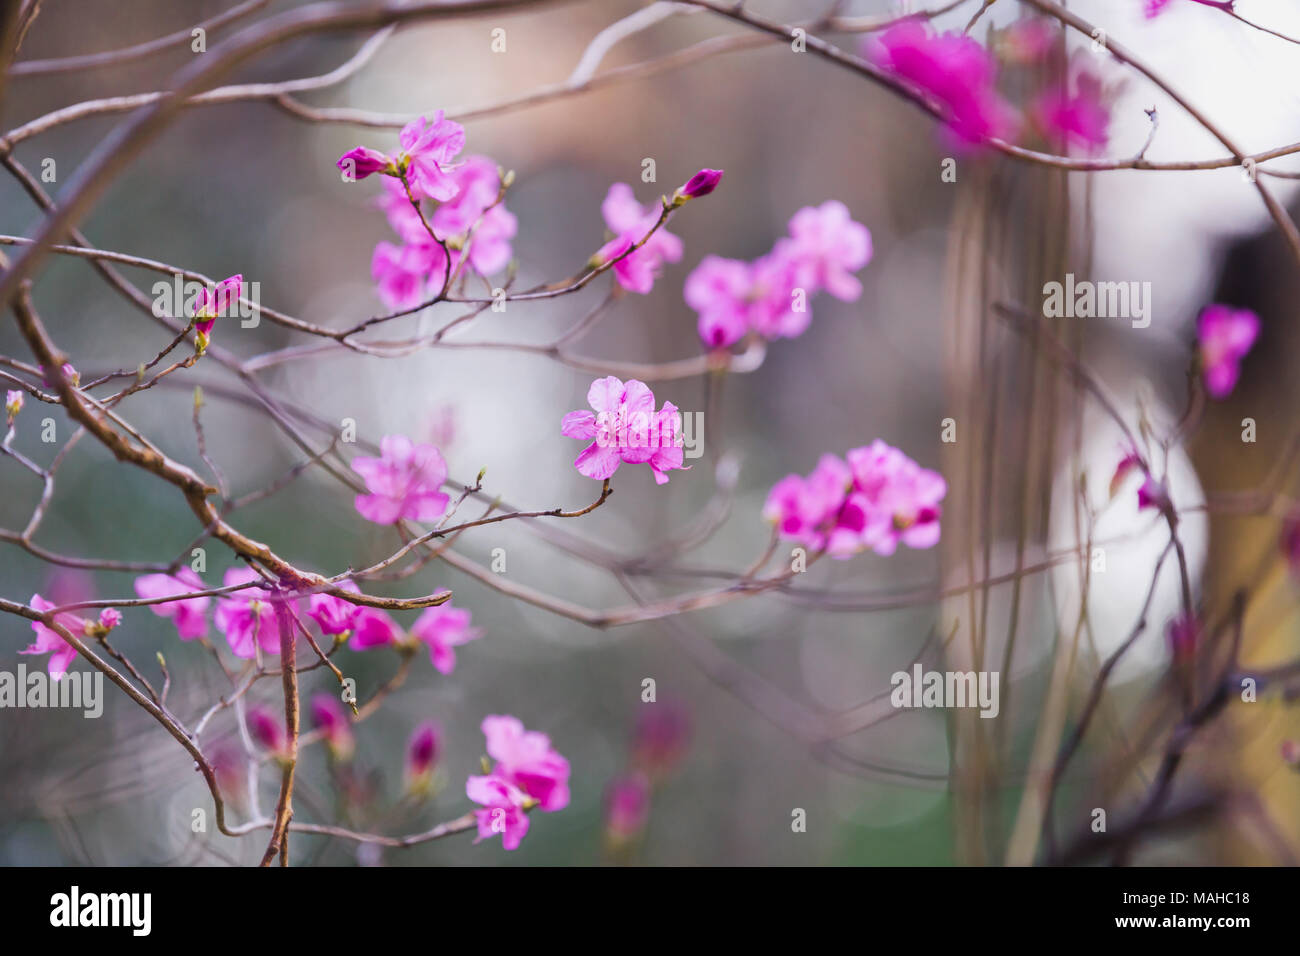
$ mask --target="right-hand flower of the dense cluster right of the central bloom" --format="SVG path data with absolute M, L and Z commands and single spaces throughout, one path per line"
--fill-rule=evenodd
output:
M 863 538 L 866 546 L 876 554 L 893 554 L 900 541 L 909 548 L 939 542 L 940 501 L 948 494 L 942 475 L 922 468 L 883 441 L 852 449 L 846 458 L 853 485 L 875 518 Z

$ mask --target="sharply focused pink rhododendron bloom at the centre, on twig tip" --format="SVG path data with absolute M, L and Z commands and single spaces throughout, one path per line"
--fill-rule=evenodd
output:
M 666 472 L 685 470 L 680 414 L 671 402 L 655 411 L 650 388 L 636 378 L 627 384 L 615 376 L 597 378 L 586 401 L 594 411 L 572 411 L 560 423 L 560 433 L 592 444 L 573 460 L 580 473 L 607 479 L 623 462 L 649 464 L 656 484 L 668 480 Z

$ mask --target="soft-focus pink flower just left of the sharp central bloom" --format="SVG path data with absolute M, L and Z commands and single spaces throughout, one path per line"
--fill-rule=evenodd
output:
M 447 479 L 442 454 L 433 445 L 417 445 L 402 434 L 380 441 L 380 458 L 354 458 L 352 471 L 365 479 L 369 492 L 356 496 L 356 510 L 377 524 L 396 524 L 404 518 L 433 522 L 451 503 L 438 490 Z

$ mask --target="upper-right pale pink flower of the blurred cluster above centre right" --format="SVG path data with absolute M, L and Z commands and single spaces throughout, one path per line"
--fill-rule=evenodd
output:
M 803 207 L 790 217 L 789 232 L 785 255 L 796 263 L 797 280 L 809 295 L 822 289 L 842 302 L 862 295 L 862 284 L 852 273 L 871 261 L 871 233 L 853 221 L 844 203 L 831 199 Z

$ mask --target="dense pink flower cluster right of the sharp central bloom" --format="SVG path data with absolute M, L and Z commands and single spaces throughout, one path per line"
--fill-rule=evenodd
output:
M 939 541 L 946 493 L 941 475 L 875 441 L 844 459 L 823 455 L 807 477 L 777 481 L 763 516 L 781 537 L 835 558 L 866 548 L 893 554 L 900 542 L 931 548 Z

